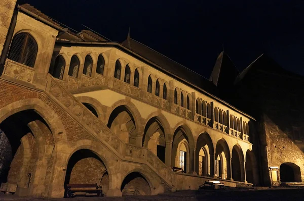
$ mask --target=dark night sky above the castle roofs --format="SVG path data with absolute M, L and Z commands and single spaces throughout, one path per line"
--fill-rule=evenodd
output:
M 222 51 L 243 70 L 262 53 L 304 75 L 304 1 L 26 0 L 77 30 L 131 37 L 209 78 Z

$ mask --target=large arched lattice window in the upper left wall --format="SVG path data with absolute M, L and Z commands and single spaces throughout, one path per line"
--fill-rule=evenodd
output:
M 29 33 L 19 33 L 13 38 L 9 59 L 29 67 L 34 67 L 38 45 Z

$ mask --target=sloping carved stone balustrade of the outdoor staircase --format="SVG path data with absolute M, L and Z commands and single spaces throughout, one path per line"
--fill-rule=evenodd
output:
M 175 173 L 149 149 L 127 144 L 120 140 L 103 122 L 64 89 L 50 74 L 47 77 L 46 93 L 77 120 L 94 138 L 104 144 L 121 161 L 146 165 L 161 180 L 173 188 Z

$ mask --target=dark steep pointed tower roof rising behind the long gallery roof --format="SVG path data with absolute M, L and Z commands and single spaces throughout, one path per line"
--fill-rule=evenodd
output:
M 234 80 L 238 74 L 239 71 L 230 57 L 222 51 L 216 59 L 209 80 L 216 86 L 225 86 L 232 82 L 230 80 Z

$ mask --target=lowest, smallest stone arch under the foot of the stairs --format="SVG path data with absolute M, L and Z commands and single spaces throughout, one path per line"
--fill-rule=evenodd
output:
M 147 177 L 147 173 L 141 169 L 129 171 L 122 179 L 121 191 L 124 195 L 151 195 L 153 184 Z M 132 190 L 127 190 L 132 189 Z

